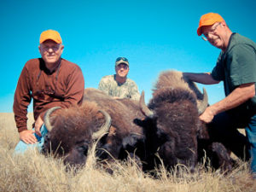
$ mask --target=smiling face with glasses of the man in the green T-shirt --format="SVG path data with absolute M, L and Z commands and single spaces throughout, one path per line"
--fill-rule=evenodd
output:
M 223 23 L 217 22 L 212 26 L 202 26 L 201 32 L 214 47 L 225 49 Z

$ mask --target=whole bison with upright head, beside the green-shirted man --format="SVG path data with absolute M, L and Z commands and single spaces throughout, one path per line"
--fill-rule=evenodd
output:
M 222 143 L 213 142 L 207 125 L 199 120 L 207 105 L 207 91 L 201 93 L 194 82 L 177 71 L 160 74 L 148 106 L 142 94 L 140 106 L 147 118 L 137 120 L 137 124 L 156 131 L 157 137 L 151 138 L 152 148 L 166 167 L 181 163 L 194 170 L 198 160 L 207 154 L 214 168 L 230 170 L 230 154 Z

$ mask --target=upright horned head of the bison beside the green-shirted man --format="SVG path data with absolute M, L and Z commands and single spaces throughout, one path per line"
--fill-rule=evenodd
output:
M 197 96 L 201 92 L 191 87 L 198 90 L 192 82 L 185 82 L 181 73 L 162 73 L 148 106 L 144 92 L 140 98 L 140 108 L 147 116 L 143 125 L 155 126 L 154 143 L 165 166 L 182 163 L 193 168 L 197 161 L 199 115 L 208 103 L 205 89 Z

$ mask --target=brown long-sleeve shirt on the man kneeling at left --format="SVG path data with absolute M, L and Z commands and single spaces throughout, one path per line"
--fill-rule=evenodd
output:
M 61 59 L 59 67 L 52 73 L 45 67 L 42 58 L 26 62 L 15 90 L 14 113 L 18 131 L 26 126 L 27 107 L 33 99 L 34 119 L 49 108 L 68 108 L 81 104 L 84 96 L 84 76 L 80 67 Z

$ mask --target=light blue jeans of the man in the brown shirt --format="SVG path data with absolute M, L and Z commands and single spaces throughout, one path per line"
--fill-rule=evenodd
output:
M 45 125 L 42 125 L 40 132 L 41 132 L 42 137 L 39 137 L 36 133 L 34 133 L 34 136 L 38 139 L 37 143 L 26 144 L 20 140 L 20 142 L 15 147 L 15 154 L 23 154 L 28 148 L 37 148 L 38 151 L 41 152 L 43 145 L 44 145 L 44 137 L 45 137 L 46 133 L 48 132 Z

